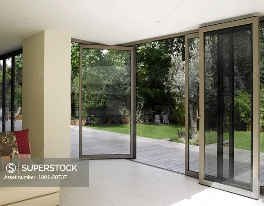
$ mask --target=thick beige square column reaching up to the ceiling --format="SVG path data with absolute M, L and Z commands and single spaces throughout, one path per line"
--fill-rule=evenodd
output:
M 70 158 L 70 44 L 47 30 L 23 40 L 22 129 L 34 158 Z

